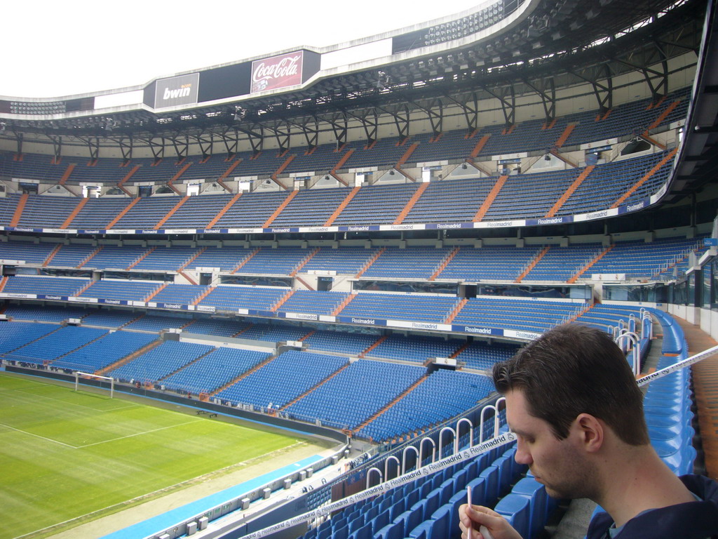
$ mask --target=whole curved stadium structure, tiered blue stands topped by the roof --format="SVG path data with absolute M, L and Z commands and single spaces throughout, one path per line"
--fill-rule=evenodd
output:
M 382 452 L 432 433 L 441 456 L 446 422 L 492 400 L 482 373 L 557 323 L 640 333 L 648 309 L 666 336 L 663 313 L 717 336 L 714 23 L 701 0 L 488 1 L 134 88 L 0 98 L 5 317 L 64 324 L 40 340 L 151 335 L 98 363 L 86 348 L 108 336 L 47 351 L 13 334 L 4 360 Z M 242 367 L 223 372 L 229 356 Z M 458 409 L 415 421 L 442 392 Z M 340 394 L 366 398 L 348 413 Z M 371 464 L 294 514 L 354 494 Z M 412 530 L 445 524 L 422 511 Z M 332 520 L 308 537 L 339 537 Z

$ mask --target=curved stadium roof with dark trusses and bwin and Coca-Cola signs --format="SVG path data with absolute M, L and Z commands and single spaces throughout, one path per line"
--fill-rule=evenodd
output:
M 642 73 L 654 96 L 665 94 L 676 70 L 668 63 L 698 51 L 705 6 L 704 0 L 490 0 L 456 17 L 358 42 L 268 53 L 152 81 L 130 88 L 144 94 L 135 106 L 101 108 L 108 93 L 28 98 L 0 101 L 0 119 L 4 137 L 45 142 L 57 136 L 134 137 L 141 145 L 151 137 L 176 142 L 217 134 L 236 140 L 291 131 L 304 134 L 309 146 L 318 131 L 341 131 L 347 121 L 363 124 L 371 138 L 378 116 L 408 132 L 411 111 L 426 112 L 439 132 L 444 107 L 460 107 L 468 118 L 485 98 L 498 98 L 510 124 L 516 96 L 526 93 L 541 99 L 551 119 L 556 91 L 577 84 L 592 84 L 598 108 L 610 108 L 612 80 L 624 73 Z M 391 50 L 377 57 L 371 47 Z M 255 64 L 286 60 L 287 52 L 302 54 L 301 83 L 248 86 Z M 350 52 L 361 61 L 325 68 Z M 200 90 L 189 101 L 164 106 L 172 99 L 162 100 L 159 83 L 167 80 L 177 88 L 164 88 L 164 96 L 196 88 L 197 81 Z M 228 88 L 228 81 L 236 85 Z

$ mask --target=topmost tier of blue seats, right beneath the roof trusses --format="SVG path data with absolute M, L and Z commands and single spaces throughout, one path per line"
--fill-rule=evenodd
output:
M 391 167 L 396 165 L 406 152 L 409 152 L 408 162 L 412 164 L 439 160 L 465 160 L 472 155 L 472 150 L 484 137 L 486 137 L 485 144 L 477 155 L 480 159 L 515 152 L 544 152 L 556 145 L 567 126 L 571 126 L 572 131 L 561 147 L 576 147 L 586 142 L 596 142 L 614 137 L 630 137 L 644 132 L 648 126 L 661 119 L 664 111 L 673 106 L 674 101 L 678 101 L 678 106 L 664 116 L 660 124 L 654 128 L 658 131 L 666 129 L 666 126 L 672 122 L 685 118 L 690 101 L 690 91 L 689 87 L 673 91 L 658 106 L 651 106 L 653 104 L 651 99 L 623 103 L 614 107 L 609 114 L 605 114 L 600 119 L 597 111 L 582 111 L 561 116 L 553 125 L 549 126 L 549 129 L 546 129 L 544 119 L 533 119 L 516 124 L 510 129 L 503 125 L 480 126 L 471 137 L 467 137 L 464 131 L 457 130 L 442 133 L 438 140 L 429 134 L 417 134 L 403 141 L 401 145 L 399 145 L 401 141 L 397 138 L 381 139 L 370 148 L 367 148 L 366 142 L 361 140 L 349 142 L 338 150 L 335 144 L 323 144 L 315 148 L 309 155 L 307 155 L 307 148 L 296 147 L 289 149 L 286 155 L 281 156 L 277 152 L 260 152 L 259 155 L 252 155 L 252 152 L 239 152 L 231 162 L 225 161 L 223 156 L 215 155 L 207 160 L 203 160 L 202 156 L 190 156 L 179 161 L 162 159 L 157 162 L 152 158 L 124 162 L 122 159 L 101 157 L 94 163 L 90 163 L 87 157 L 62 157 L 60 162 L 54 164 L 53 158 L 48 155 L 26 154 L 23 155 L 22 160 L 14 160 L 14 154 L 0 152 L 0 176 L 60 183 L 68 168 L 73 166 L 66 180 L 67 185 L 88 182 L 119 183 L 128 175 L 127 183 L 130 185 L 135 182 L 147 181 L 166 183 L 180 172 L 182 174 L 178 178 L 179 181 L 215 181 L 235 162 L 238 165 L 232 171 L 233 176 L 264 175 L 269 177 L 285 162 L 288 163 L 284 172 L 288 174 L 313 172 L 321 175 L 333 170 L 342 157 L 350 151 L 352 153 L 340 170 L 351 167 Z M 433 142 L 431 142 L 432 140 Z M 411 151 L 414 144 L 416 147 Z M 191 206 L 195 206 L 195 204 L 197 202 L 192 201 Z M 83 219 L 90 216 L 84 209 L 81 212 L 85 213 Z M 59 218 L 58 216 L 55 220 L 57 221 Z M 101 228 L 104 226 L 81 224 L 83 222 L 81 219 L 73 223 L 73 227 Z M 182 222 L 179 217 L 172 221 L 173 224 Z

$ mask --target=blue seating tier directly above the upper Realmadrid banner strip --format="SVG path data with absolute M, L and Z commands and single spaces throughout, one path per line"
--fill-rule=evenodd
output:
M 663 160 L 666 160 L 663 163 Z M 596 165 L 590 170 L 575 192 L 558 208 L 558 215 L 586 213 L 607 209 L 612 204 L 630 203 L 655 193 L 665 183 L 671 171 L 673 157 L 668 152 L 656 152 L 638 157 L 626 157 Z M 656 165 L 663 165 L 656 171 Z M 568 166 L 568 165 L 566 165 Z M 431 183 L 403 183 L 367 185 L 353 195 L 345 208 L 336 213 L 351 192 L 348 188 L 292 191 L 256 190 L 243 193 L 233 203 L 232 195 L 201 195 L 180 198 L 160 195 L 139 198 L 121 218 L 124 206 L 116 198 L 89 199 L 69 226 L 90 226 L 104 229 L 205 229 L 215 221 L 225 206 L 228 209 L 213 224 L 214 229 L 261 228 L 282 226 L 321 226 L 332 218 L 333 225 L 377 225 L 399 223 L 462 223 L 471 221 L 503 221 L 519 218 L 541 218 L 552 210 L 584 168 L 561 168 L 511 174 L 501 179 L 503 187 L 490 205 L 480 212 L 490 190 L 498 183 L 498 176 L 434 180 Z M 650 172 L 655 172 L 652 175 Z M 645 178 L 644 178 L 645 177 Z M 630 194 L 639 180 L 643 182 Z M 409 182 L 409 180 L 407 180 Z M 418 193 L 420 188 L 424 193 Z M 415 200 L 412 196 L 416 193 Z M 288 197 L 293 197 L 279 211 Z M 625 198 L 625 201 L 623 200 Z M 69 203 L 67 201 L 70 201 Z M 407 208 L 409 201 L 413 206 Z M 18 195 L 9 195 L 4 202 L 6 216 L 0 225 L 10 224 Z M 107 203 L 108 208 L 103 204 Z M 50 195 L 28 195 L 20 224 L 60 228 L 78 205 L 77 199 Z M 175 208 L 178 208 L 176 211 Z M 408 213 L 403 215 L 406 208 Z M 172 213 L 174 211 L 174 213 Z M 277 213 L 279 211 L 279 213 Z M 480 213 L 483 213 L 481 216 Z M 0 211 L 0 218 L 3 212 Z M 102 219 L 96 216 L 103 215 Z M 400 217 L 401 216 L 401 217 Z M 86 217 L 90 220 L 86 220 Z M 30 223 L 29 221 L 32 221 Z M 47 221 L 47 222 L 45 222 Z

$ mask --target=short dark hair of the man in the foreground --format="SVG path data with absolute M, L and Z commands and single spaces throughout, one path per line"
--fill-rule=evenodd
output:
M 563 440 L 581 413 L 603 420 L 625 443 L 649 443 L 643 394 L 608 333 L 579 324 L 547 331 L 493 367 L 498 392 L 521 390 L 528 411 Z

